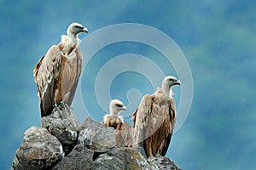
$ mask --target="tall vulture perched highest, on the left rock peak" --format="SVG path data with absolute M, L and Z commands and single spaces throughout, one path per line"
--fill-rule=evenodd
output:
M 82 68 L 80 32 L 88 30 L 79 23 L 68 26 L 67 36 L 62 35 L 34 67 L 42 117 L 49 116 L 55 105 L 72 104 Z

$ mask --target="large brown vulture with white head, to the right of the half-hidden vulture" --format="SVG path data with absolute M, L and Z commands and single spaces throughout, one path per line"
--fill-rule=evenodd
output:
M 165 156 L 176 122 L 172 87 L 180 85 L 176 77 L 165 77 L 162 88 L 144 95 L 133 118 L 133 147 L 143 147 L 146 155 Z

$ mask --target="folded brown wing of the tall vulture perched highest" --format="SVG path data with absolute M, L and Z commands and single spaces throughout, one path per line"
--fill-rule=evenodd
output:
M 37 82 L 42 117 L 50 115 L 53 109 L 54 88 L 59 77 L 60 66 L 61 50 L 54 45 L 34 67 L 34 80 Z

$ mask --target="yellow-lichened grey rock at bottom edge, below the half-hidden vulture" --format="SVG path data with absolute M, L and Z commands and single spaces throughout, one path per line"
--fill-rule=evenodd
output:
M 115 148 L 98 156 L 96 169 L 150 169 L 144 157 L 131 148 Z

